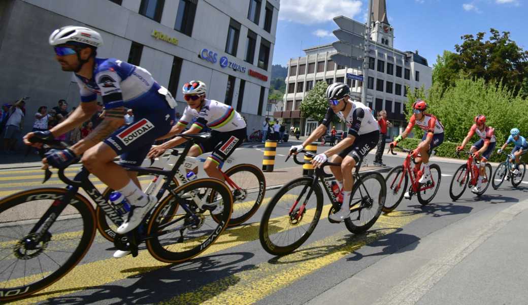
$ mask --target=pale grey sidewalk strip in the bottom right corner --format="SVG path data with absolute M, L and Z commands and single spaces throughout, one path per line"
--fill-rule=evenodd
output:
M 528 199 L 424 236 L 308 304 L 526 304 Z

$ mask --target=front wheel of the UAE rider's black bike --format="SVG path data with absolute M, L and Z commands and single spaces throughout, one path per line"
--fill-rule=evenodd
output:
M 272 255 L 294 252 L 314 232 L 323 211 L 323 191 L 309 177 L 297 178 L 271 198 L 260 220 L 259 239 Z

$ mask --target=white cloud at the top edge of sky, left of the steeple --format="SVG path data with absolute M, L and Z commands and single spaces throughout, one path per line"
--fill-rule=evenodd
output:
M 280 3 L 279 20 L 314 24 L 340 15 L 354 18 L 361 5 L 361 0 L 287 0 Z

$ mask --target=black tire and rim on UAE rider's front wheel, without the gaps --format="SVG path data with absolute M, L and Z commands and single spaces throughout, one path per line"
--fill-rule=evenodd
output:
M 285 197 L 285 195 L 286 196 L 289 195 L 289 194 L 287 194 L 288 191 L 290 191 L 291 189 L 294 189 L 296 187 L 299 187 L 299 186 L 302 186 L 303 188 L 305 186 L 307 186 L 308 188 L 310 188 L 313 183 L 314 183 L 314 180 L 313 180 L 313 178 L 310 178 L 310 177 L 301 177 L 301 178 L 294 179 L 294 180 L 288 182 L 287 184 L 285 184 L 283 187 L 281 187 L 277 191 L 275 196 L 273 196 L 273 198 L 271 198 L 268 206 L 266 207 L 266 210 L 264 211 L 264 214 L 262 215 L 262 219 L 260 220 L 260 227 L 259 227 L 260 244 L 262 245 L 262 248 L 264 248 L 264 250 L 266 252 L 268 252 L 269 254 L 280 256 L 280 255 L 286 255 L 286 254 L 289 254 L 291 252 L 294 252 L 295 249 L 297 249 L 304 242 L 306 242 L 306 239 L 308 239 L 308 237 L 310 237 L 312 232 L 314 232 L 314 229 L 317 226 L 317 223 L 318 223 L 319 218 L 321 217 L 321 213 L 323 211 L 323 190 L 320 188 L 318 183 L 316 183 L 315 184 L 315 188 L 312 189 L 313 193 L 311 195 L 311 196 L 315 195 L 315 200 L 316 200 L 315 210 L 314 210 L 314 217 L 313 217 L 312 221 L 310 221 L 310 223 L 308 225 L 308 228 L 305 231 L 305 233 L 301 234 L 300 237 L 296 241 L 294 241 L 294 242 L 292 242 L 290 244 L 287 244 L 287 245 L 278 245 L 274 241 L 272 241 L 271 236 L 276 233 L 276 232 L 274 232 L 272 230 L 274 230 L 277 227 L 279 227 L 277 225 L 277 223 L 280 224 L 280 220 L 276 219 L 278 217 L 270 219 L 270 217 L 272 215 L 272 212 L 274 211 L 274 208 L 276 207 L 276 205 L 279 202 L 279 200 L 283 196 Z M 306 190 L 306 192 L 308 192 L 308 191 L 309 191 L 309 189 Z M 289 199 L 286 199 L 286 201 L 289 201 Z M 301 200 L 301 201 L 304 201 L 304 200 Z M 304 215 L 305 214 L 303 214 L 303 217 L 304 217 Z M 282 217 L 282 218 L 284 218 L 285 220 L 290 219 L 288 222 L 291 224 L 290 216 L 286 215 L 286 217 Z M 270 220 L 272 221 L 272 223 L 270 223 Z M 300 221 L 300 220 L 297 220 L 297 221 Z M 298 224 L 299 223 L 294 224 L 294 227 L 298 228 L 297 227 Z M 285 230 L 284 232 L 288 232 L 288 231 L 289 231 L 289 229 Z

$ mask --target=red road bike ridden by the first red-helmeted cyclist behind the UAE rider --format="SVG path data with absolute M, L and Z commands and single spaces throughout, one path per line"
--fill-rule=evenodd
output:
M 411 161 L 416 164 L 414 161 L 414 150 L 408 150 L 398 145 L 394 147 L 389 147 L 389 152 L 393 155 L 393 149 L 398 148 L 403 152 L 407 153 L 403 165 L 399 165 L 389 171 L 387 177 L 385 178 L 386 189 L 387 189 L 387 199 L 385 200 L 385 205 L 383 206 L 383 212 L 388 213 L 393 211 L 398 207 L 403 195 L 406 190 L 409 191 L 409 194 L 413 196 L 414 194 L 418 197 L 418 202 L 422 206 L 428 205 L 433 198 L 435 198 L 438 189 L 440 188 L 440 181 L 442 180 L 442 173 L 438 164 L 430 164 L 429 170 L 431 171 L 431 179 L 427 183 L 420 183 L 420 178 L 423 174 L 423 165 L 419 171 L 416 167 L 411 169 Z M 409 189 L 407 185 L 411 180 L 411 185 Z

